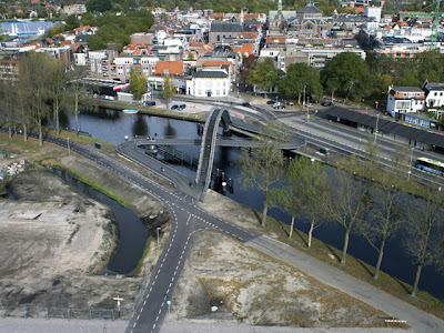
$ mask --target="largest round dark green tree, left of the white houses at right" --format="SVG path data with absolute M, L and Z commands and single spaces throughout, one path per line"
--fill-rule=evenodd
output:
M 360 56 L 342 52 L 334 57 L 323 70 L 323 81 L 330 91 L 340 90 L 347 97 L 362 95 L 370 87 L 369 65 Z

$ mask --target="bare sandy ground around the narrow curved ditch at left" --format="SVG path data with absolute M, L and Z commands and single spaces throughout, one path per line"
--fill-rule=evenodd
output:
M 1 161 L 4 165 L 26 159 L 37 169 L 21 173 L 9 184 L 19 200 L 1 201 L 0 306 L 6 306 L 8 315 L 22 316 L 23 306 L 27 306 L 28 315 L 44 316 L 49 307 L 50 316 L 67 317 L 70 307 L 73 317 L 75 313 L 89 317 L 90 307 L 115 309 L 112 297 L 119 294 L 125 300 L 122 313 L 131 316 L 143 279 L 97 275 L 117 243 L 115 224 L 109 209 L 85 198 L 57 175 L 38 170 L 57 164 L 77 171 L 128 199 L 130 208 L 147 224 L 169 221 L 163 205 L 139 188 L 119 181 L 107 169 L 56 145 L 46 143 L 39 148 L 32 140 L 23 145 L 14 139 L 0 138 L 0 150 L 10 152 L 9 159 Z M 135 171 L 141 169 L 122 162 Z M 145 170 L 140 173 L 150 176 Z M 162 184 L 170 185 L 165 181 Z M 169 228 L 162 230 L 162 234 L 168 235 Z M 142 274 L 149 274 L 157 255 L 155 246 L 151 245 Z

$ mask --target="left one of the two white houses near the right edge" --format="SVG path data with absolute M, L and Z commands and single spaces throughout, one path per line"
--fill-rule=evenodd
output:
M 386 111 L 396 118 L 397 113 L 417 113 L 424 110 L 425 92 L 416 87 L 389 87 Z

